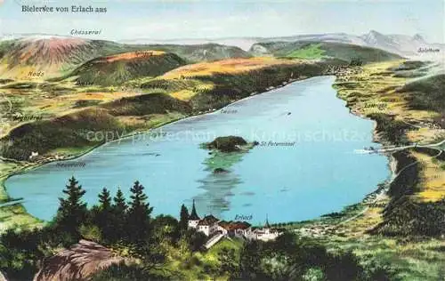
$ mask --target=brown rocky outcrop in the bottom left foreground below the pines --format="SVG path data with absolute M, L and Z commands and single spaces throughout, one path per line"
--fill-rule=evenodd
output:
M 97 271 L 124 261 L 124 258 L 115 255 L 102 245 L 80 240 L 70 249 L 44 260 L 42 269 L 36 274 L 34 281 L 89 280 Z

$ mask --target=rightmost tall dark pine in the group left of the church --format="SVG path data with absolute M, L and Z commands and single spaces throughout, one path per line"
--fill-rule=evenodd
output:
M 139 181 L 134 182 L 130 191 L 131 202 L 128 209 L 128 237 L 130 242 L 141 244 L 150 239 L 151 219 L 150 214 L 153 208 L 146 203 L 148 197 L 143 193 L 143 186 Z

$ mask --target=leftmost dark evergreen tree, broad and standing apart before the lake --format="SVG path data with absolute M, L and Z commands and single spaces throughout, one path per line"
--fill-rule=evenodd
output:
M 85 221 L 87 213 L 86 204 L 82 201 L 85 190 L 78 185 L 78 181 L 73 176 L 62 192 L 67 195 L 67 198 L 59 198 L 56 226 L 68 232 L 69 235 L 78 236 L 78 228 Z

